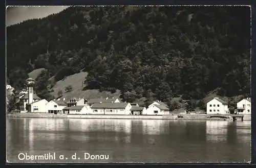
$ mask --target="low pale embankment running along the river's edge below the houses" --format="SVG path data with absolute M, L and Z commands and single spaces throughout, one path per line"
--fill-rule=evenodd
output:
M 233 120 L 233 114 L 169 114 L 169 115 L 78 115 L 78 114 L 50 114 L 50 113 L 7 113 L 6 117 L 20 118 L 99 118 L 99 119 L 181 119 L 181 120 Z M 240 115 L 242 116 L 242 115 Z M 239 117 L 238 117 L 239 118 Z M 242 119 L 242 117 L 241 117 Z M 239 119 L 240 120 L 240 119 Z M 244 121 L 250 121 L 250 115 L 243 115 Z

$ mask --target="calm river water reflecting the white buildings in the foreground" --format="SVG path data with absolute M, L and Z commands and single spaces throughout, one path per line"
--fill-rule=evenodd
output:
M 251 158 L 250 121 L 7 118 L 6 136 L 7 160 L 14 163 L 249 162 Z M 31 158 L 49 152 L 55 152 L 57 159 Z M 59 160 L 60 155 L 65 158 Z

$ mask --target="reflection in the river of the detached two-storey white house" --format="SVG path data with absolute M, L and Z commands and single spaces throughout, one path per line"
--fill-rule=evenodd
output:
M 228 121 L 206 121 L 206 139 L 209 142 L 227 141 Z

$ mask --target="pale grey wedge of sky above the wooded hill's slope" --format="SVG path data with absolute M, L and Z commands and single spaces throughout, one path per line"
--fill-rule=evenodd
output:
M 58 13 L 69 6 L 12 6 L 6 9 L 6 26 L 34 18 L 47 17 Z

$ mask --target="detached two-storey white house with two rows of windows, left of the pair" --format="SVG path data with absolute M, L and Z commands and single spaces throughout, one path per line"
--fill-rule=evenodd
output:
M 220 98 L 214 98 L 206 104 L 207 114 L 228 114 L 228 103 Z

